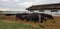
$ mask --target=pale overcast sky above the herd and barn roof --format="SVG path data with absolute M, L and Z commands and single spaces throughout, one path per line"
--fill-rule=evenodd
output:
M 60 3 L 60 0 L 0 0 L 0 11 L 27 11 L 32 5 Z

